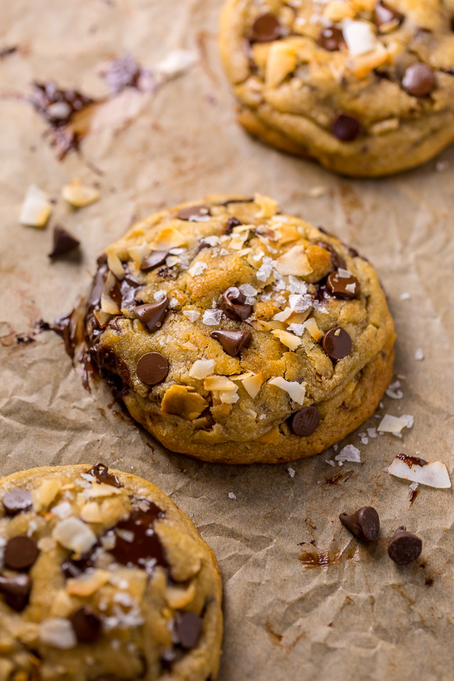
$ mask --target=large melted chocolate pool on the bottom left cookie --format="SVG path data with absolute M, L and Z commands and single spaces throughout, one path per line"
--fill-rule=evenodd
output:
M 141 508 L 134 509 L 114 528 L 115 531 L 131 533 L 131 541 L 123 532 L 116 532 L 116 543 L 110 553 L 121 565 L 136 565 L 143 570 L 153 570 L 155 565 L 167 566 L 160 538 L 153 528 L 155 521 L 162 518 L 164 511 L 153 504 L 141 500 Z M 144 510 L 145 508 L 145 510 Z

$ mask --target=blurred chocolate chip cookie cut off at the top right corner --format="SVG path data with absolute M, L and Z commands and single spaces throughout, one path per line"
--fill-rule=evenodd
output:
M 353 177 L 420 165 L 454 140 L 452 3 L 228 0 L 220 48 L 238 121 Z

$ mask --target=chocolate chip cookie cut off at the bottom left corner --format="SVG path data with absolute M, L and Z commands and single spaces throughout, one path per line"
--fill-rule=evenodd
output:
M 221 576 L 160 489 L 97 464 L 0 480 L 0 677 L 215 679 Z

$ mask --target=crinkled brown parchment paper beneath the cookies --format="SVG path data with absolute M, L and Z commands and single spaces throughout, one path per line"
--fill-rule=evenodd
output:
M 453 471 L 454 150 L 438 166 L 353 182 L 251 140 L 234 122 L 218 61 L 220 6 L 221 0 L 0 4 L 0 48 L 18 45 L 0 60 L 0 472 L 102 460 L 159 485 L 221 565 L 221 681 L 445 681 L 454 662 L 453 491 L 419 487 L 410 506 L 409 483 L 384 469 L 402 451 L 443 460 Z M 198 52 L 199 63 L 147 96 L 123 131 L 89 135 L 82 155 L 63 162 L 32 107 L 6 96 L 30 94 L 33 79 L 104 96 L 102 62 L 130 50 L 153 67 L 174 48 Z M 70 210 L 60 189 L 73 177 L 99 184 L 101 200 Z M 45 231 L 18 224 L 31 183 L 58 199 Z M 313 198 L 322 191 L 314 187 L 323 195 Z M 122 415 L 109 392 L 84 390 L 57 336 L 16 343 L 15 333 L 29 332 L 37 319 L 72 308 L 87 292 L 96 256 L 133 219 L 208 192 L 256 190 L 358 248 L 389 294 L 404 397 L 385 397 L 380 414 L 413 414 L 415 423 L 402 439 L 382 435 L 367 445 L 353 433 L 342 445 L 360 448 L 360 464 L 335 469 L 326 463 L 335 455 L 330 450 L 292 464 L 292 478 L 286 465 L 228 467 L 171 454 Z M 49 261 L 56 222 L 82 241 L 80 262 Z M 405 292 L 410 299 L 401 299 Z M 419 348 L 422 361 L 414 358 Z M 372 418 L 359 430 L 377 423 Z M 338 521 L 341 511 L 366 504 L 382 521 L 381 538 L 370 547 Z M 401 524 L 423 538 L 421 559 L 408 567 L 386 553 L 387 537 Z

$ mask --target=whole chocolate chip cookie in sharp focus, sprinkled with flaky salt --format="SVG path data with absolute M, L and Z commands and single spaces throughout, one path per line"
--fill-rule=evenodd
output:
M 372 265 L 256 194 L 150 216 L 99 259 L 88 353 L 170 450 L 274 463 L 375 410 L 394 325 Z

